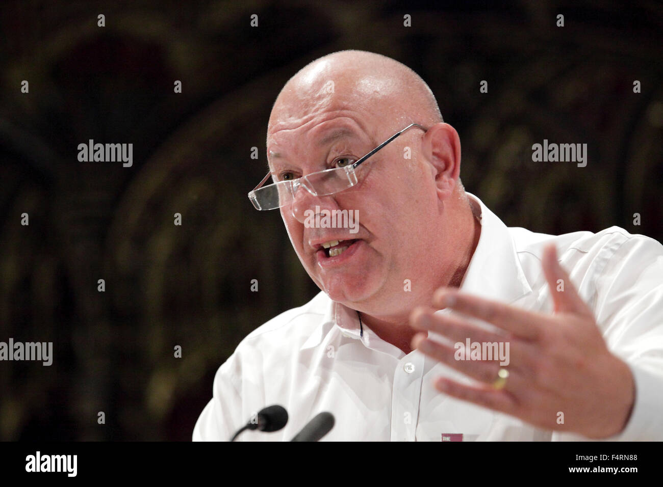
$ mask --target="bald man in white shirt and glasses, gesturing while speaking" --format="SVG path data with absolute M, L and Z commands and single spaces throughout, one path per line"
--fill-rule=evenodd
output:
M 663 439 L 658 242 L 507 228 L 463 190 L 428 85 L 379 54 L 300 70 L 267 151 L 276 186 L 251 199 L 280 209 L 324 292 L 240 343 L 194 440 L 225 441 L 271 404 L 286 426 L 239 439 L 290 440 L 320 411 L 332 441 Z M 356 233 L 311 223 L 343 210 Z

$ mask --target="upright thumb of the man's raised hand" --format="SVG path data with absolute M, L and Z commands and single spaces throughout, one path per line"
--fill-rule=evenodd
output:
M 569 274 L 562 268 L 557 258 L 554 244 L 544 248 L 542 259 L 543 272 L 550 286 L 550 295 L 555 313 L 577 313 L 591 316 L 591 310 L 580 298 Z

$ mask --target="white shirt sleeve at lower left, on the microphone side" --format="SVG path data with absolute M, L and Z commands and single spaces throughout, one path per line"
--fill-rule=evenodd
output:
M 212 398 L 196 421 L 193 441 L 229 441 L 244 424 L 241 395 L 235 384 L 237 372 L 237 356 L 233 354 L 214 376 Z

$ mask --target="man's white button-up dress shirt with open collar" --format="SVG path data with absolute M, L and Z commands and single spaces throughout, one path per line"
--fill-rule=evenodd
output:
M 533 311 L 552 312 L 541 258 L 558 259 L 594 311 L 605 341 L 629 364 L 636 399 L 611 441 L 663 440 L 663 246 L 619 227 L 566 235 L 508 228 L 481 200 L 481 236 L 461 290 Z M 438 311 L 444 313 L 446 310 Z M 221 365 L 194 441 L 227 441 L 265 406 L 289 414 L 280 431 L 245 431 L 241 441 L 289 441 L 314 415 L 335 425 L 323 441 L 583 440 L 438 392 L 434 379 L 459 372 L 418 351 L 404 354 L 361 325 L 357 312 L 320 292 L 247 335 Z

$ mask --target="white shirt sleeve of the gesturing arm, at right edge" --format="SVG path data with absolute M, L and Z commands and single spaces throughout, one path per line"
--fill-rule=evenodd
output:
M 635 401 L 621 433 L 602 441 L 662 441 L 663 246 L 634 235 L 611 253 L 597 278 L 595 318 L 608 348 L 631 368 Z M 560 439 L 587 440 L 554 433 Z

